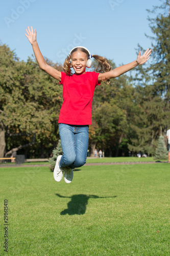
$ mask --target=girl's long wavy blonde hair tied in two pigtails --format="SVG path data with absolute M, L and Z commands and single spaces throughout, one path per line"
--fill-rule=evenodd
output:
M 63 70 L 66 73 L 66 75 L 68 75 L 68 76 L 72 75 L 71 61 L 70 61 L 71 55 L 72 55 L 72 53 L 79 52 L 79 51 L 84 52 L 87 55 L 87 58 L 89 57 L 88 51 L 84 48 L 77 47 L 74 50 L 72 50 L 71 53 L 66 57 L 64 64 L 63 64 Z M 102 57 L 99 55 L 92 55 L 92 57 L 98 61 L 97 66 L 94 68 L 95 72 L 105 73 L 105 72 L 112 70 L 112 66 L 110 65 L 110 62 L 105 57 Z M 110 83 L 110 79 L 104 79 L 103 81 L 107 84 Z

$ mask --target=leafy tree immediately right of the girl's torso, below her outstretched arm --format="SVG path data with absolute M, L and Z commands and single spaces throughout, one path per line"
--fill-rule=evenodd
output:
M 110 61 L 115 68 L 114 62 Z M 122 143 L 128 138 L 132 117 L 134 88 L 128 76 L 122 75 L 111 79 L 110 84 L 101 83 L 94 91 L 92 104 L 92 126 L 89 128 L 89 145 L 91 156 L 96 145 L 109 156 L 118 156 L 124 151 Z

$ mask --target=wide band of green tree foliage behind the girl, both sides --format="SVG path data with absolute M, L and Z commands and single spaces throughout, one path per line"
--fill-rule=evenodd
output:
M 160 134 L 166 134 L 170 118 L 170 15 L 169 1 L 161 2 L 149 11 L 154 16 L 148 18 L 154 34 L 150 60 L 132 71 L 131 77 L 124 74 L 111 79 L 110 84 L 102 82 L 94 91 L 91 152 L 95 146 L 109 156 L 121 156 L 128 150 L 154 156 Z M 45 60 L 62 71 L 57 63 Z M 115 63 L 110 62 L 114 69 Z M 36 135 L 29 157 L 48 157 L 58 143 L 62 86 L 41 71 L 35 59 L 19 61 L 6 45 L 0 45 L 0 76 L 0 121 L 5 127 L 6 151 L 31 143 Z

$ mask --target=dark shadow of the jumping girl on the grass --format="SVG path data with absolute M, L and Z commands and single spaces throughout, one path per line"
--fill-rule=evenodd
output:
M 117 196 L 113 196 L 113 197 L 99 197 L 99 196 L 95 196 L 95 195 L 73 195 L 71 197 L 64 197 L 61 196 L 60 194 L 56 194 L 56 196 L 60 197 L 60 198 L 70 198 L 71 201 L 68 202 L 67 204 L 67 209 L 63 210 L 60 212 L 60 215 L 83 215 L 86 212 L 86 205 L 88 204 L 88 199 L 89 198 L 94 198 L 94 199 L 98 199 L 98 198 L 115 198 Z

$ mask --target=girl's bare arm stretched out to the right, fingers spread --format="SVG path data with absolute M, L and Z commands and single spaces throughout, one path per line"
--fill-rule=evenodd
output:
M 147 51 L 145 51 L 144 54 L 142 56 L 140 56 L 141 51 L 139 51 L 137 60 L 135 60 L 127 65 L 123 65 L 118 68 L 115 68 L 109 72 L 99 74 L 98 81 L 104 81 L 106 79 L 118 77 L 118 76 L 130 71 L 131 69 L 134 69 L 139 65 L 142 65 L 143 63 L 147 62 L 147 60 L 149 60 L 149 58 L 151 57 L 150 56 L 151 52 L 152 52 L 152 50 L 147 49 Z

